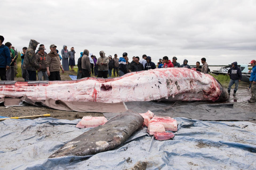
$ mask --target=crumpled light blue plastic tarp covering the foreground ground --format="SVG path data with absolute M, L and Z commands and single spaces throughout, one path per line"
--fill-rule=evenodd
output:
M 179 126 L 173 140 L 154 140 L 143 128 L 115 150 L 50 159 L 90 128 L 76 128 L 81 119 L 4 120 L 0 169 L 256 169 L 256 124 L 175 119 Z

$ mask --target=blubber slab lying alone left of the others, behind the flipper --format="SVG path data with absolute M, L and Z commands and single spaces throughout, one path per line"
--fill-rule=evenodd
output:
M 75 126 L 77 128 L 94 128 L 99 125 L 104 125 L 107 122 L 106 117 L 92 117 L 84 116 L 80 122 Z

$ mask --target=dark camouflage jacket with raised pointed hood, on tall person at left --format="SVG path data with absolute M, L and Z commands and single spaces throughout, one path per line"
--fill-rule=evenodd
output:
M 25 58 L 23 61 L 23 69 L 30 70 L 30 71 L 36 71 L 39 68 L 39 63 L 37 62 L 36 56 L 35 56 L 35 50 L 37 48 L 37 45 L 39 42 L 35 40 L 30 40 L 29 47 L 26 50 Z

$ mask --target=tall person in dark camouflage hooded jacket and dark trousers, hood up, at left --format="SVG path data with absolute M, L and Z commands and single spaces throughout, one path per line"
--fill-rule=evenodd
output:
M 27 70 L 29 73 L 29 80 L 36 81 L 37 80 L 37 69 L 41 67 L 41 65 L 37 62 L 35 56 L 35 50 L 37 49 L 37 45 L 39 42 L 35 40 L 30 40 L 29 47 L 26 50 L 25 58 L 23 61 L 23 68 Z

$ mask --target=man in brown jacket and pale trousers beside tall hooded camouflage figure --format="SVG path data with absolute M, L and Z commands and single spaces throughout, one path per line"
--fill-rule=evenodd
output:
M 45 48 L 44 47 L 39 47 L 38 48 L 38 53 L 35 55 L 37 62 L 41 64 L 41 67 L 37 69 L 37 75 L 38 75 L 38 80 L 49 80 L 48 75 L 46 72 L 46 54 L 45 54 Z M 42 79 L 43 77 L 43 79 Z

